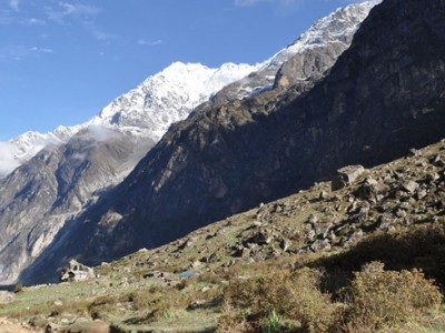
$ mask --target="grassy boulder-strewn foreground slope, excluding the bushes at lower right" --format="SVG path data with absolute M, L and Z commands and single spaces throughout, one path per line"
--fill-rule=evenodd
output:
M 266 306 L 271 301 L 266 296 L 270 295 L 269 279 L 281 279 L 284 272 L 299 276 L 305 270 L 318 270 L 317 287 L 324 300 L 329 300 L 342 290 L 349 291 L 352 272 L 373 261 L 384 263 L 386 270 L 422 269 L 443 290 L 444 172 L 444 140 L 412 149 L 406 157 L 372 169 L 340 169 L 333 182 L 320 182 L 260 204 L 160 248 L 141 249 L 116 262 L 102 263 L 95 268 L 98 278 L 91 281 L 24 287 L 16 295 L 7 293 L 0 315 L 10 317 L 8 325 L 16 319 L 26 327 L 49 326 L 59 332 L 88 332 L 99 324 L 118 332 L 215 332 L 218 326 L 221 329 L 227 313 L 234 315 L 235 309 L 227 302 L 239 283 L 260 281 L 258 297 Z M 342 186 L 338 179 L 344 180 Z M 250 284 L 244 286 L 240 295 L 255 293 Z M 385 292 L 388 299 L 390 286 L 382 290 L 384 286 L 373 289 L 372 297 Z M 419 285 L 411 287 L 414 294 Z M 400 282 L 397 302 L 402 289 Z M 276 292 L 279 302 L 284 302 L 280 290 Z M 309 297 L 306 310 L 315 312 L 312 320 L 317 322 L 328 304 L 317 303 L 307 284 L 298 289 L 297 296 L 299 302 Z M 346 305 L 350 297 L 332 302 Z M 389 327 L 380 324 L 378 330 L 443 332 L 443 311 L 434 313 L 434 319 L 428 315 L 404 316 L 402 326 L 390 320 Z M 418 322 L 413 326 L 413 321 Z M 234 331 L 253 332 L 235 329 L 236 321 L 229 323 Z M 352 327 L 345 326 L 344 321 L 342 324 L 334 332 L 357 332 L 349 331 Z M 300 327 L 300 332 L 313 331 Z M 362 326 L 358 332 L 367 331 Z

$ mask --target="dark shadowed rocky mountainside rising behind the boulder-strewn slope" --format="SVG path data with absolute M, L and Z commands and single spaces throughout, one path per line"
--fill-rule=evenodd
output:
M 52 250 L 100 260 L 158 245 L 343 165 L 375 165 L 438 141 L 444 59 L 445 2 L 385 0 L 322 82 L 204 105 L 77 221 L 72 242 Z

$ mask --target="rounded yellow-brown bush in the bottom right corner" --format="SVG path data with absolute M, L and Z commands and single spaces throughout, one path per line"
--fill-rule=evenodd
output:
M 348 331 L 374 331 L 438 311 L 438 287 L 419 270 L 384 271 L 372 262 L 356 272 L 349 290 Z

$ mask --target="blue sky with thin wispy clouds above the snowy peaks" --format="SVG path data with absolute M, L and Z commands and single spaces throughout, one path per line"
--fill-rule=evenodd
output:
M 0 141 L 81 123 L 174 61 L 263 61 L 352 2 L 0 0 Z

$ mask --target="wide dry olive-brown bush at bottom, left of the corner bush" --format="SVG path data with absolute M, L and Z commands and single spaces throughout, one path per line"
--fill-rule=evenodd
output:
M 257 325 L 267 323 L 275 313 L 298 323 L 306 332 L 327 332 L 335 322 L 336 306 L 329 295 L 319 291 L 318 283 L 319 273 L 315 270 L 278 271 L 233 282 L 225 291 L 225 300 Z

